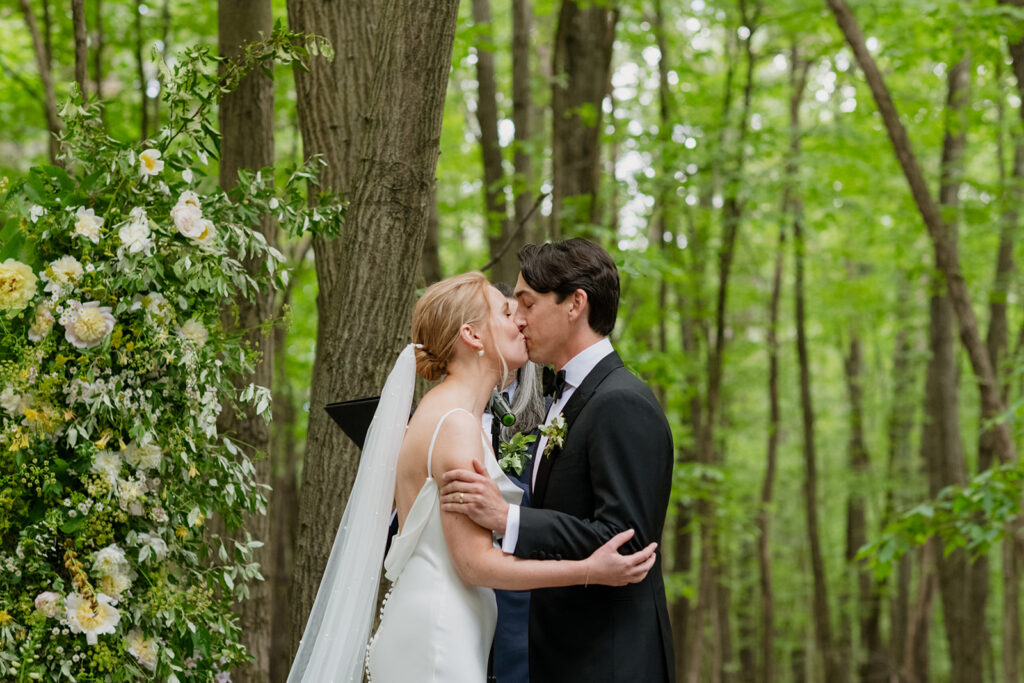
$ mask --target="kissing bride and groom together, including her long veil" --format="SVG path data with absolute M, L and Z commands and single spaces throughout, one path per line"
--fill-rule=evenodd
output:
M 656 552 L 672 434 L 607 339 L 617 269 L 581 239 L 527 245 L 519 261 L 514 302 L 470 272 L 417 303 L 289 681 L 358 681 L 365 667 L 375 683 L 483 683 L 493 589 L 532 589 L 534 683 L 672 680 Z M 527 357 L 553 365 L 559 386 L 520 506 L 481 417 Z M 410 418 L 414 373 L 441 381 Z M 368 644 L 392 504 L 392 585 Z

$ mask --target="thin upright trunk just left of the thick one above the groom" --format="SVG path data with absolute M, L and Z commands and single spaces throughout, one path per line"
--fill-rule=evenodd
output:
M 517 271 L 519 260 L 516 255 L 522 245 L 527 242 L 542 242 L 539 230 L 535 228 L 536 222 L 528 217 L 537 183 L 532 163 L 534 118 L 537 112 L 530 83 L 532 70 L 529 66 L 532 32 L 532 3 L 530 0 L 512 0 L 512 124 L 515 126 L 515 146 L 512 155 L 515 178 L 512 182 L 512 196 L 515 198 L 513 229 L 518 230 L 518 233 L 509 252 L 512 254 L 513 265 Z M 512 280 L 514 281 L 515 276 Z

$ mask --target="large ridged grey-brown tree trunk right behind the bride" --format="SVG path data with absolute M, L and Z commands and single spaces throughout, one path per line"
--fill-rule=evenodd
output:
M 341 236 L 313 242 L 319 327 L 292 593 L 294 652 L 358 460 L 322 408 L 378 393 L 409 340 L 458 0 L 388 0 L 379 8 L 296 0 L 288 10 L 293 29 L 337 46 L 333 66 L 316 60 L 309 73 L 296 72 L 296 89 L 305 152 L 325 155 L 323 184 L 349 200 Z

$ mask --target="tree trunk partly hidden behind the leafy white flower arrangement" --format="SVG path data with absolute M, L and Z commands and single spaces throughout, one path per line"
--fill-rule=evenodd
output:
M 259 40 L 260 33 L 269 35 L 273 28 L 270 0 L 218 0 L 217 33 L 220 55 L 231 58 L 241 53 L 247 42 Z M 224 190 L 233 188 L 239 182 L 239 170 L 257 171 L 273 165 L 273 80 L 262 70 L 249 74 L 234 92 L 229 92 L 220 100 L 220 186 Z M 275 245 L 276 223 L 264 216 L 258 229 L 270 245 Z M 258 261 L 248 261 L 250 272 L 258 272 L 264 267 Z M 222 317 L 228 326 L 238 325 L 246 330 L 245 338 L 252 348 L 259 352 L 252 378 L 239 378 L 237 388 L 243 389 L 250 382 L 258 386 L 273 385 L 273 334 L 261 331 L 260 326 L 273 317 L 274 294 L 257 294 L 250 302 L 239 299 L 233 302 L 234 310 L 226 309 Z M 232 321 L 233 318 L 233 321 Z M 269 425 L 253 411 L 236 415 L 225 411 L 218 426 L 228 436 L 233 437 L 246 455 L 253 459 L 256 480 L 270 483 L 270 429 Z M 273 504 L 273 495 L 269 496 Z M 275 539 L 270 533 L 270 517 L 247 515 L 246 528 L 264 546 L 256 550 L 254 559 L 267 567 L 273 558 Z M 285 586 L 273 582 L 273 577 L 250 585 L 250 598 L 240 605 L 242 630 L 246 648 L 254 657 L 239 671 L 242 680 L 253 683 L 270 681 L 270 648 L 272 641 L 271 620 L 268 605 L 275 594 L 284 592 Z

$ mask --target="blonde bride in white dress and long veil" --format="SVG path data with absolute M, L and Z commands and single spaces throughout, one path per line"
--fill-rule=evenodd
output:
M 510 502 L 519 489 L 498 467 L 481 416 L 503 377 L 526 361 L 508 300 L 480 272 L 427 289 L 410 344 L 382 392 L 359 470 L 288 680 L 482 683 L 497 607 L 492 589 L 524 590 L 641 581 L 654 547 L 617 549 L 624 531 L 585 560 L 523 560 L 492 532 L 441 512 L 436 479 L 482 463 Z M 442 378 L 408 419 L 414 372 Z M 408 419 L 408 427 L 407 427 Z M 384 560 L 391 591 L 370 644 L 392 501 L 399 531 Z

